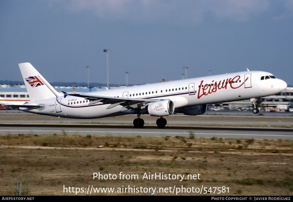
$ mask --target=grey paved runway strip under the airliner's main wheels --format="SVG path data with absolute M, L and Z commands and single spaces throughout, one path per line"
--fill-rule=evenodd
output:
M 134 129 L 130 126 L 117 125 L 0 125 L 1 134 L 58 134 L 58 135 L 113 135 L 113 136 L 182 136 L 189 137 L 222 137 L 244 139 L 293 139 L 293 129 L 257 129 L 257 128 L 211 128 L 211 127 L 166 127 L 157 129 L 146 126 L 144 129 Z

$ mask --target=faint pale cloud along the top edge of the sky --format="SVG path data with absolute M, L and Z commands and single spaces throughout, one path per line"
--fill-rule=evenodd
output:
M 291 1 L 292 2 L 292 1 Z M 91 11 L 99 18 L 115 21 L 159 23 L 199 23 L 206 13 L 219 19 L 247 21 L 269 9 L 268 0 L 71 0 L 66 8 L 72 12 Z M 290 4 L 287 2 L 287 4 Z M 290 7 L 290 5 L 288 5 Z

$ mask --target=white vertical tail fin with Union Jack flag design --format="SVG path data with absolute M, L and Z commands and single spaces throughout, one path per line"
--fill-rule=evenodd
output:
M 30 101 L 61 96 L 30 63 L 18 64 Z

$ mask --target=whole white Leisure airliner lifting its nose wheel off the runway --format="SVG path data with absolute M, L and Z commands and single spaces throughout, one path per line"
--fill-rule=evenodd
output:
M 143 114 L 159 117 L 156 124 L 164 128 L 164 117 L 174 113 L 202 115 L 207 105 L 250 99 L 253 113 L 256 98 L 281 92 L 285 81 L 263 71 L 243 71 L 190 78 L 162 83 L 108 89 L 97 92 L 57 92 L 30 64 L 18 64 L 31 102 L 16 105 L 19 110 L 35 114 L 74 119 L 95 119 L 137 114 L 134 128 L 143 128 Z

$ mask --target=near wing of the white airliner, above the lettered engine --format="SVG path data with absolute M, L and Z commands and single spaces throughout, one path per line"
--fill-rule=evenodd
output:
M 64 93 L 64 97 L 67 95 L 76 96 L 76 97 L 84 97 L 91 102 L 88 105 L 93 105 L 97 102 L 103 102 L 105 104 L 110 104 L 107 109 L 111 109 L 116 107 L 117 105 L 123 106 L 126 109 L 143 109 L 146 105 L 151 102 L 158 102 L 162 99 L 137 99 L 137 98 L 127 98 L 127 97 L 107 97 L 107 96 L 95 96 L 95 95 L 87 95 L 85 93 L 82 94 L 69 94 Z

